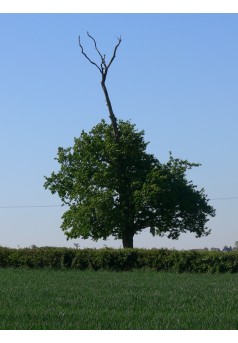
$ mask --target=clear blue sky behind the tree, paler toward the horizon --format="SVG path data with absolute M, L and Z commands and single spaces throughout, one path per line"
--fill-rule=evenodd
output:
M 0 14 L 0 245 L 120 247 L 121 241 L 72 240 L 60 229 L 64 208 L 43 188 L 58 170 L 59 146 L 102 118 L 108 121 L 100 74 L 81 55 L 78 35 L 96 58 L 89 31 L 110 56 L 114 112 L 145 130 L 148 151 L 166 162 L 201 163 L 188 178 L 216 208 L 210 236 L 179 240 L 145 230 L 136 247 L 192 249 L 238 240 L 237 14 Z M 217 199 L 219 198 L 219 199 Z M 220 199 L 233 198 L 233 199 Z M 10 208 L 6 208 L 10 207 Z

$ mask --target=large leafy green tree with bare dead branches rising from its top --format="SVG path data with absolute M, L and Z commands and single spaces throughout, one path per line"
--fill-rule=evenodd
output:
M 208 235 L 208 217 L 215 210 L 208 204 L 204 190 L 197 190 L 186 178 L 186 171 L 198 166 L 186 160 L 174 159 L 161 164 L 147 153 L 144 132 L 135 125 L 117 120 L 105 86 L 108 68 L 112 64 L 97 48 L 101 64 L 93 62 L 102 75 L 101 85 L 109 109 L 111 124 L 104 120 L 89 133 L 75 138 L 74 146 L 59 148 L 57 173 L 46 177 L 44 184 L 58 193 L 69 209 L 63 214 L 62 230 L 67 238 L 98 240 L 114 236 L 122 239 L 124 248 L 133 248 L 133 237 L 150 228 L 155 235 L 177 239 L 182 232 L 196 237 Z

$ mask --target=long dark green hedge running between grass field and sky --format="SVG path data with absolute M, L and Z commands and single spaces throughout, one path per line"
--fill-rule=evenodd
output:
M 236 273 L 238 272 L 238 251 L 225 253 L 167 249 L 11 249 L 0 247 L 0 268 L 9 267 Z

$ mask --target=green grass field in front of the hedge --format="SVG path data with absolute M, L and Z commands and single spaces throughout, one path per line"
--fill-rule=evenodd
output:
M 238 274 L 0 269 L 0 329 L 238 329 Z

